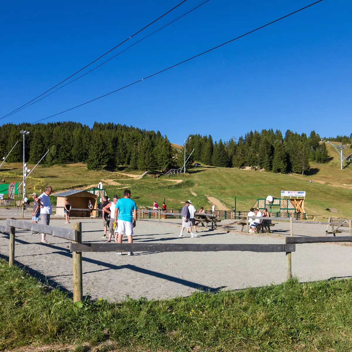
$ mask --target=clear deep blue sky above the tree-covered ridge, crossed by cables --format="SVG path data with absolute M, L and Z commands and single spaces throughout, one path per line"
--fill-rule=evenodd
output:
M 180 1 L 3 2 L 0 115 L 43 93 Z M 199 1 L 187 0 L 120 48 Z M 0 123 L 33 122 L 94 99 L 311 1 L 210 0 Z M 180 144 L 190 133 L 210 133 L 224 140 L 262 128 L 349 135 L 351 11 L 352 1 L 324 0 L 209 54 L 45 121 L 73 120 L 90 126 L 94 121 L 110 121 L 160 130 Z

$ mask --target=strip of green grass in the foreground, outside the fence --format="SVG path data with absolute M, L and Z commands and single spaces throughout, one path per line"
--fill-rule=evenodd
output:
M 73 304 L 0 261 L 0 349 L 27 344 L 114 341 L 124 350 L 349 351 L 352 280 L 162 301 Z

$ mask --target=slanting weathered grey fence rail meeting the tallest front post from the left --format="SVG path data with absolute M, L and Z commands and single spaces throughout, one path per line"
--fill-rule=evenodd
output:
M 64 238 L 71 241 L 77 241 L 77 230 L 69 228 L 55 227 L 50 225 L 34 224 L 33 222 L 6 219 L 6 224 L 11 227 L 33 232 L 46 233 L 54 237 Z

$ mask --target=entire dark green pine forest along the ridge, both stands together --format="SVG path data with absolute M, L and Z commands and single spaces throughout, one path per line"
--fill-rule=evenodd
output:
M 47 124 L 4 124 L 0 127 L 0 156 L 6 156 L 21 130 L 30 131 L 25 139 L 25 158 L 29 163 L 42 161 L 53 164 L 86 163 L 90 170 L 115 170 L 124 166 L 130 170 L 164 171 L 182 167 L 184 149 L 172 147 L 169 139 L 159 131 L 146 131 L 137 127 L 95 122 L 90 128 L 77 122 Z M 352 136 L 352 135 L 351 135 Z M 351 136 L 338 136 L 329 140 L 351 143 Z M 193 153 L 191 154 L 191 152 Z M 312 131 L 309 137 L 287 130 L 262 130 L 247 133 L 238 139 L 213 141 L 212 136 L 191 134 L 186 143 L 189 167 L 194 161 L 221 167 L 251 166 L 272 172 L 309 170 L 309 162 L 328 162 L 325 143 Z M 18 143 L 6 162 L 22 161 L 22 143 Z

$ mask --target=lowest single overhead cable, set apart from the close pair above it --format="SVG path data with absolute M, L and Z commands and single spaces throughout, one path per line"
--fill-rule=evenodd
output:
M 275 22 L 278 22 L 278 21 L 280 21 L 280 20 L 282 20 L 282 19 L 284 19 L 284 18 L 286 18 L 286 17 L 289 17 L 289 16 L 291 16 L 291 15 L 297 13 L 297 12 L 300 12 L 300 11 L 302 11 L 302 10 L 305 10 L 306 8 L 308 8 L 308 7 L 310 7 L 310 6 L 316 5 L 316 4 L 318 4 L 319 2 L 321 2 L 321 1 L 323 1 L 323 0 L 315 1 L 315 2 L 313 2 L 313 3 L 310 4 L 310 5 L 304 6 L 304 7 L 300 8 L 299 10 L 296 10 L 296 11 L 294 11 L 294 12 L 291 12 L 291 13 L 289 13 L 289 14 L 283 16 L 283 17 L 280 17 L 280 18 L 278 18 L 278 19 L 276 19 L 276 20 L 274 20 L 274 21 L 271 21 L 271 22 L 269 22 L 269 23 L 267 23 L 267 24 L 265 24 L 265 25 L 263 25 L 263 26 L 260 26 L 260 27 L 258 27 L 258 28 L 256 28 L 256 29 L 253 29 L 252 31 L 247 32 L 247 33 L 245 33 L 245 34 L 242 34 L 242 35 L 239 36 L 239 37 L 233 38 L 233 39 L 231 39 L 231 40 L 228 40 L 228 41 L 225 42 L 225 43 L 222 43 L 222 44 L 220 44 L 220 45 L 214 46 L 214 48 L 212 48 L 212 49 L 203 51 L 203 52 L 201 52 L 201 53 L 198 54 L 198 55 L 192 56 L 192 57 L 190 57 L 190 58 L 188 58 L 188 59 L 186 59 L 186 60 L 184 60 L 184 61 L 181 61 L 181 62 L 179 62 L 179 63 L 177 63 L 177 64 L 175 64 L 175 65 L 172 65 L 172 66 L 170 66 L 170 67 L 168 67 L 168 68 L 165 68 L 165 69 L 163 69 L 163 70 L 161 70 L 161 71 L 158 71 L 158 72 L 156 72 L 156 73 L 154 73 L 154 74 L 152 74 L 152 75 L 149 75 L 149 76 L 147 76 L 147 77 L 144 77 L 144 78 L 142 78 L 142 79 L 140 79 L 140 80 L 138 80 L 138 81 L 135 81 L 135 82 L 133 82 L 133 83 L 127 84 L 127 85 L 124 86 L 124 87 L 121 87 L 121 88 L 119 88 L 119 89 L 113 90 L 113 91 L 110 92 L 110 93 L 106 93 L 106 94 L 104 94 L 104 95 L 98 96 L 98 98 L 95 98 L 95 99 L 86 101 L 85 103 L 82 103 L 82 104 L 77 105 L 77 106 L 74 106 L 74 107 L 72 107 L 72 108 L 70 108 L 70 109 L 61 111 L 61 112 L 59 112 L 59 113 L 57 113 L 57 114 L 54 114 L 54 115 L 45 117 L 44 119 L 40 119 L 40 120 L 34 121 L 34 122 L 32 122 L 32 124 L 35 124 L 35 123 L 37 123 L 37 122 L 40 122 L 40 121 L 43 121 L 43 120 L 46 120 L 46 119 L 50 119 L 51 117 L 54 117 L 54 116 L 57 116 L 57 115 L 61 115 L 61 114 L 65 113 L 65 112 L 71 111 L 71 110 L 76 109 L 76 108 L 78 108 L 78 107 L 80 107 L 80 106 L 89 104 L 89 103 L 91 103 L 91 102 L 93 102 L 93 101 L 95 101 L 95 100 L 98 100 L 98 99 L 104 98 L 105 96 L 108 96 L 108 95 L 110 95 L 110 94 L 116 93 L 116 92 L 118 92 L 119 90 L 122 90 L 122 89 L 125 89 L 125 88 L 127 88 L 127 87 L 133 86 L 134 84 L 139 83 L 139 82 L 142 82 L 143 80 L 146 80 L 147 78 L 156 76 L 156 75 L 158 75 L 158 74 L 160 74 L 160 73 L 162 73 L 162 72 L 165 72 L 165 71 L 170 70 L 170 69 L 172 69 L 172 68 L 174 68 L 174 67 L 176 67 L 176 66 L 178 66 L 178 65 L 181 65 L 181 64 L 183 64 L 183 63 L 185 63 L 185 62 L 188 62 L 188 61 L 190 61 L 190 60 L 192 60 L 192 59 L 194 59 L 194 58 L 196 58 L 196 57 L 199 57 L 199 56 L 201 56 L 201 55 L 207 54 L 208 52 L 210 52 L 210 51 L 212 51 L 212 50 L 218 49 L 218 48 L 220 48 L 221 46 L 224 46 L 224 45 L 226 45 L 226 44 L 228 44 L 228 43 L 233 42 L 234 40 L 237 40 L 237 39 L 239 39 L 239 38 L 245 37 L 245 36 L 247 36 L 248 34 L 251 34 L 251 33 L 256 32 L 256 31 L 258 31 L 258 30 L 260 30 L 260 29 L 263 29 L 264 27 L 267 27 L 267 26 L 269 26 L 269 25 L 271 25 L 271 24 L 273 24 L 273 23 L 275 23 Z

